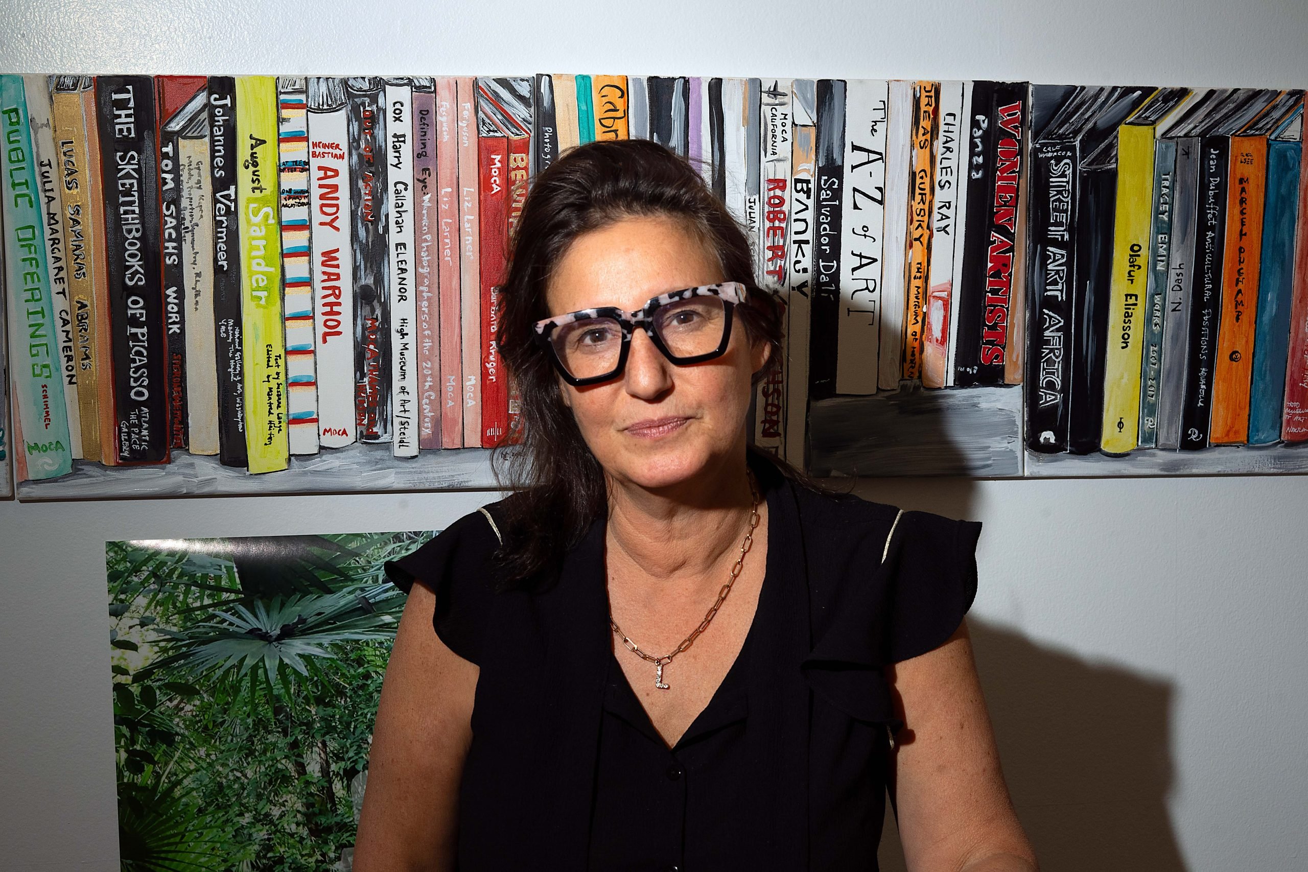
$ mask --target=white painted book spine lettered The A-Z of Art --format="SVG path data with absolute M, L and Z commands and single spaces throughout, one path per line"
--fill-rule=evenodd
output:
M 883 227 L 886 222 L 887 116 L 889 84 L 850 80 L 845 93 L 840 281 L 836 322 L 836 394 L 875 394 L 884 316 Z M 819 105 L 819 115 L 821 106 Z M 906 119 L 905 119 L 906 120 Z M 819 124 L 821 120 L 819 118 Z M 821 131 L 819 131 L 819 140 Z M 819 143 L 819 152 L 821 144 Z M 820 163 L 820 161 L 819 161 Z M 904 169 L 908 184 L 908 167 Z M 904 205 L 904 200 L 900 200 Z M 906 207 L 905 207 L 906 208 Z M 821 190 L 819 188 L 819 212 Z M 906 213 L 905 213 L 906 214 Z M 819 234 L 821 233 L 819 218 Z M 901 237 L 903 239 L 903 237 Z M 824 255 L 825 256 L 825 255 Z M 899 380 L 896 379 L 896 386 Z

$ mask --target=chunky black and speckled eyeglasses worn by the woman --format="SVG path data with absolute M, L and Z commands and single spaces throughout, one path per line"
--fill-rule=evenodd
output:
M 632 312 L 600 306 L 542 319 L 536 340 L 549 349 L 564 380 L 581 387 L 623 371 L 637 327 L 678 366 L 719 357 L 731 341 L 731 309 L 744 299 L 746 286 L 738 281 L 685 288 Z

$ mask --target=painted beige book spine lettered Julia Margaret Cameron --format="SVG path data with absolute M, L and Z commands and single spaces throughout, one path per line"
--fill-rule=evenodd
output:
M 73 459 L 86 455 L 81 444 L 81 411 L 77 404 L 77 331 L 73 326 L 69 292 L 68 241 L 64 237 L 63 196 L 59 182 L 59 154 L 55 152 L 54 124 L 50 111 L 50 86 L 46 76 L 24 76 L 27 92 L 27 122 L 31 129 L 33 158 L 37 163 L 37 186 L 44 220 L 46 269 L 55 310 L 55 346 L 64 380 L 64 416 L 68 418 L 68 447 Z

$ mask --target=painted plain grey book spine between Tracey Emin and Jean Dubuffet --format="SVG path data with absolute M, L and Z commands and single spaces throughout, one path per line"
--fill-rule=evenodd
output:
M 1181 409 L 1185 405 L 1190 361 L 1190 292 L 1198 238 L 1199 140 L 1176 140 L 1176 180 L 1172 212 L 1172 250 L 1167 258 L 1167 314 L 1163 316 L 1163 377 L 1158 395 L 1158 447 L 1181 447 Z

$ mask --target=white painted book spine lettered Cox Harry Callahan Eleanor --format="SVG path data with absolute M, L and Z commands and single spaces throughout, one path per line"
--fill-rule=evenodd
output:
M 386 85 L 387 182 L 391 186 L 391 425 L 396 458 L 415 458 L 417 430 L 417 299 L 413 260 L 413 89 Z

